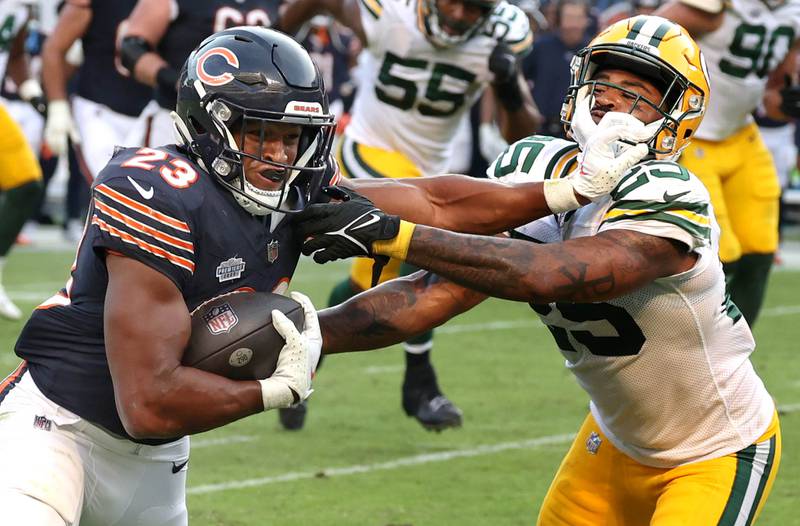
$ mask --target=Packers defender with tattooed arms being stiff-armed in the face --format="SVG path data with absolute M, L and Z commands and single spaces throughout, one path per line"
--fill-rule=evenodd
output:
M 553 213 L 512 239 L 423 225 L 486 232 L 475 216 L 518 210 L 487 210 L 479 199 L 442 207 L 403 183 L 348 182 L 407 220 L 344 192 L 344 203 L 303 212 L 304 252 L 318 261 L 391 255 L 441 278 L 393 280 L 322 311 L 325 351 L 394 343 L 486 295 L 528 302 L 591 398 L 539 524 L 751 524 L 780 463 L 779 421 L 749 360 L 750 328 L 725 292 L 709 194 L 673 161 L 703 117 L 704 60 L 680 26 L 637 16 L 600 33 L 572 67 L 563 117 L 576 142 L 529 137 L 490 175 L 547 189 L 609 166 L 630 151 L 628 141 L 607 142 L 609 119 L 643 131 L 649 155 L 577 211 L 560 213 L 570 207 L 551 195 Z

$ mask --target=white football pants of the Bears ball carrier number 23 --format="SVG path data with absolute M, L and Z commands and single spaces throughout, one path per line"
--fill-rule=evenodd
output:
M 28 372 L 0 402 L 0 510 L 14 526 L 185 526 L 189 438 L 116 438 L 48 400 Z

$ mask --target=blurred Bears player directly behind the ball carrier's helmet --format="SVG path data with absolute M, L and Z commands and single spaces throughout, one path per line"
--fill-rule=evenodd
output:
M 139 0 L 120 41 L 122 66 L 154 88 L 153 101 L 128 137 L 133 145 L 159 146 L 175 140 L 178 73 L 204 38 L 233 26 L 271 27 L 281 0 Z

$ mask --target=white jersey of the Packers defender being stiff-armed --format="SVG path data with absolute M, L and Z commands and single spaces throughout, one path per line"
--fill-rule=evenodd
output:
M 511 145 L 489 176 L 557 178 L 576 152 L 574 143 L 530 137 Z M 774 405 L 749 360 L 750 329 L 725 293 L 719 232 L 694 175 L 673 162 L 643 162 L 604 200 L 511 234 L 552 243 L 620 228 L 678 240 L 699 258 L 686 272 L 606 302 L 531 305 L 589 393 L 592 414 L 618 449 L 646 465 L 747 447 L 767 429 Z

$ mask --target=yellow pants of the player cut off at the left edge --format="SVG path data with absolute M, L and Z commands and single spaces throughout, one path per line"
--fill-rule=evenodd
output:
M 5 192 L 41 178 L 39 161 L 22 129 L 0 104 L 0 190 Z

